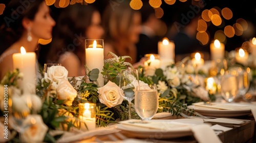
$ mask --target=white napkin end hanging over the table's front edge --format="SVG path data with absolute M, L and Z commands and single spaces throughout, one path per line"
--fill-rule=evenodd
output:
M 222 142 L 220 138 L 215 134 L 214 130 L 210 128 L 209 125 L 202 124 L 191 126 L 191 130 L 194 133 L 194 137 L 196 140 L 200 142 L 207 142 L 207 143 L 218 143 Z

